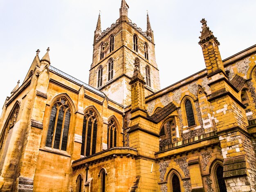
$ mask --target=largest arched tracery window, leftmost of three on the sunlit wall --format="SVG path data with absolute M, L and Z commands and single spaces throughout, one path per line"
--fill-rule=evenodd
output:
M 67 138 L 70 127 L 70 106 L 65 98 L 59 98 L 52 106 L 46 147 L 58 150 L 67 150 Z

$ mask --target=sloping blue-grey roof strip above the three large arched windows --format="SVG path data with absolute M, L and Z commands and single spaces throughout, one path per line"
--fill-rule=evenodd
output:
M 95 89 L 94 87 L 91 87 L 90 85 L 88 85 L 88 84 L 86 84 L 86 83 L 83 83 L 81 80 L 78 80 L 78 79 L 76 79 L 76 78 L 70 76 L 69 74 L 64 73 L 63 71 L 61 71 L 61 70 L 59 70 L 59 69 L 53 67 L 52 65 L 49 66 L 49 69 L 52 70 L 52 71 L 54 71 L 55 73 L 57 73 L 57 74 L 59 74 L 59 75 L 65 77 L 65 78 L 68 78 L 69 80 L 72 80 L 72 81 L 75 82 L 75 83 L 78 83 L 78 84 L 81 85 L 81 86 L 83 85 L 85 88 L 91 90 L 92 92 L 94 92 L 94 93 L 96 93 L 96 94 L 99 94 L 99 95 L 101 95 L 101 96 L 103 96 L 103 97 L 106 97 L 106 95 L 105 95 L 103 92 L 99 91 L 98 89 Z

